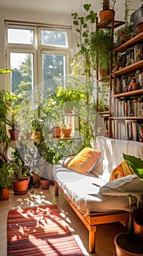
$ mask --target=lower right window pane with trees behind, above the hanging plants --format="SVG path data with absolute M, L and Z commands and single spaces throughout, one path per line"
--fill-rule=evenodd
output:
M 42 54 L 42 80 L 66 75 L 66 55 Z M 46 88 L 45 88 L 46 89 Z

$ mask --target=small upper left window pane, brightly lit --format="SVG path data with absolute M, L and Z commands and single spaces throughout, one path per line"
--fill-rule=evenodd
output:
M 33 29 L 7 29 L 8 43 L 34 45 Z

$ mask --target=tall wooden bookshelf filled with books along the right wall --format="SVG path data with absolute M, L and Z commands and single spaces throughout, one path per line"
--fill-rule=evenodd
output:
M 143 32 L 115 48 L 114 52 L 126 59 L 119 70 L 110 74 L 109 137 L 142 142 Z M 130 88 L 132 78 L 138 84 L 136 90 Z

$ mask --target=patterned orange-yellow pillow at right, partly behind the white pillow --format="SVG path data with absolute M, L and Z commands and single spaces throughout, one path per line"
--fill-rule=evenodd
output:
M 112 170 L 112 174 L 111 174 L 109 181 L 114 181 L 117 178 L 124 177 L 124 176 L 131 175 L 131 174 L 134 174 L 134 173 L 128 166 L 127 162 L 123 161 L 123 162 L 121 162 L 120 165 L 115 167 L 114 170 Z

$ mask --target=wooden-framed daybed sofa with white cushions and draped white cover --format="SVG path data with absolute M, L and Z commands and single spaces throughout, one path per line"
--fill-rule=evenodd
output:
M 129 205 L 126 195 L 134 195 L 133 212 L 142 208 L 143 195 L 143 181 L 134 174 L 110 181 L 113 170 L 120 176 L 120 168 L 116 168 L 123 162 L 123 153 L 143 160 L 143 143 L 98 137 L 95 149 L 100 152 L 99 157 L 85 174 L 67 167 L 65 162 L 69 159 L 63 159 L 53 167 L 55 195 L 58 196 L 58 188 L 61 189 L 71 208 L 88 228 L 90 253 L 96 251 L 96 226 L 109 222 L 127 225 Z

